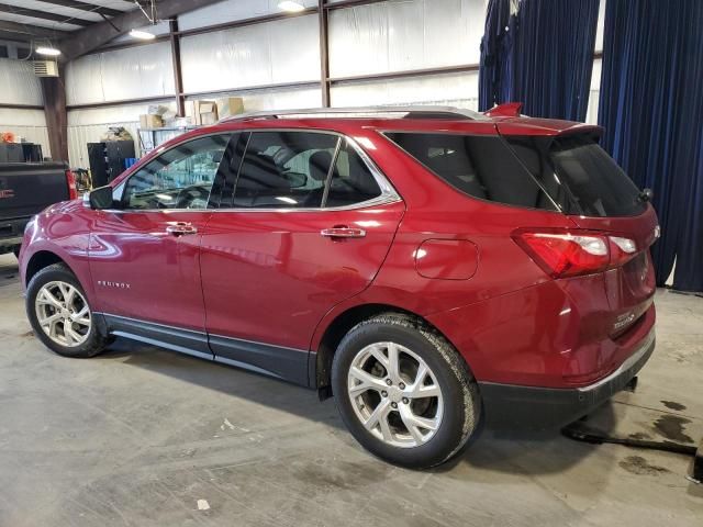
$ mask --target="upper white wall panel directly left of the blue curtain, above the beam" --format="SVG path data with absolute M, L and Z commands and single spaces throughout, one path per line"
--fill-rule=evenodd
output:
M 484 0 L 402 0 L 330 13 L 330 74 L 478 64 Z

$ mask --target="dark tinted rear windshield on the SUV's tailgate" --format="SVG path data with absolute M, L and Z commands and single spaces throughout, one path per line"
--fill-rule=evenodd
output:
M 590 135 L 505 139 L 567 214 L 633 216 L 644 212 L 639 190 Z

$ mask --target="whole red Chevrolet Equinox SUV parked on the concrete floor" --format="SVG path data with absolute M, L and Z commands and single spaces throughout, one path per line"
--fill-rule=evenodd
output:
M 655 346 L 659 227 L 600 128 L 446 108 L 250 114 L 33 218 L 26 311 L 57 354 L 114 336 L 335 395 L 368 450 L 431 467 L 558 426 Z

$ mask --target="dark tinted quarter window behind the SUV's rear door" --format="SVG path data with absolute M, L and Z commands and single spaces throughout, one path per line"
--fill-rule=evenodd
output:
M 556 210 L 501 137 L 410 132 L 387 136 L 466 194 L 507 205 Z

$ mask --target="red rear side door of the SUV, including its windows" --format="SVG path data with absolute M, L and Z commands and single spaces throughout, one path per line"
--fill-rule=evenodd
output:
M 231 167 L 201 244 L 211 349 L 306 384 L 316 325 L 371 282 L 404 204 L 335 134 L 244 133 Z

